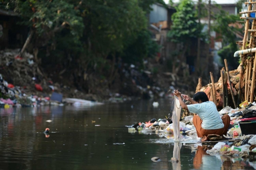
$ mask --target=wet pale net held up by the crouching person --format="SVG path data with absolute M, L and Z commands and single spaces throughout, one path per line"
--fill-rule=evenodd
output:
M 180 133 L 180 119 L 181 110 L 179 98 L 174 95 L 174 110 L 173 110 L 173 127 L 174 127 L 174 141 L 179 141 L 181 139 Z

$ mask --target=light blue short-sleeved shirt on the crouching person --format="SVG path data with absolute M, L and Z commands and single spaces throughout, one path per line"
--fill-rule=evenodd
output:
M 202 102 L 187 106 L 191 113 L 198 114 L 198 116 L 202 119 L 202 128 L 219 129 L 224 127 L 214 102 Z

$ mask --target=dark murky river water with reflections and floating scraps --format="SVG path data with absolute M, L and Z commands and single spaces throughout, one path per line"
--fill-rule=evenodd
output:
M 172 99 L 158 102 L 2 109 L 0 170 L 254 170 L 256 162 L 210 156 L 198 144 L 174 148 L 155 133 L 128 133 L 125 125 L 168 115 Z M 180 160 L 173 163 L 177 145 Z

